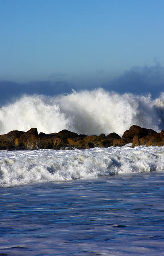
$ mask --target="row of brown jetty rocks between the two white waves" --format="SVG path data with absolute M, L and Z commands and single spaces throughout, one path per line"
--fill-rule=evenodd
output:
M 115 132 L 105 136 L 77 134 L 69 130 L 62 130 L 45 134 L 38 134 L 37 128 L 27 132 L 14 130 L 0 135 L 0 150 L 36 150 L 36 149 L 88 149 L 107 148 L 110 146 L 124 146 L 132 143 L 131 147 L 164 146 L 164 130 L 156 132 L 152 129 L 141 128 L 133 125 L 120 137 Z

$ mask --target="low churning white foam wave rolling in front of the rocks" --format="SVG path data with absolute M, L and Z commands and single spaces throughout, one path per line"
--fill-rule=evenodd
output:
M 0 151 L 0 185 L 164 171 L 164 147 Z

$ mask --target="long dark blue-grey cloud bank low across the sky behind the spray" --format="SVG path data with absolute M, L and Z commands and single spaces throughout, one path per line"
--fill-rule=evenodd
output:
M 102 73 L 102 71 L 100 72 Z M 64 74 L 54 74 L 59 80 L 53 82 L 47 81 L 31 81 L 28 83 L 17 83 L 13 81 L 0 80 L 0 106 L 12 102 L 19 98 L 22 94 L 45 94 L 55 95 L 61 93 L 70 93 L 71 88 L 79 91 L 82 89 L 92 90 L 98 87 L 103 87 L 108 91 L 115 91 L 123 94 L 130 92 L 133 94 L 152 94 L 152 97 L 157 97 L 161 91 L 164 91 L 164 67 L 156 62 L 156 65 L 148 67 L 133 67 L 124 72 L 124 74 L 117 76 L 108 82 L 102 82 L 101 78 L 96 84 L 92 79 L 88 83 L 76 82 L 71 80 L 64 80 Z M 102 76 L 102 74 L 101 74 Z M 53 74 L 52 74 L 53 77 Z M 62 79 L 61 79 L 62 78 Z M 94 81 L 94 78 L 93 78 Z

